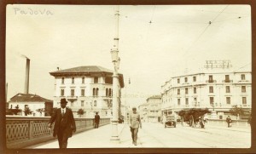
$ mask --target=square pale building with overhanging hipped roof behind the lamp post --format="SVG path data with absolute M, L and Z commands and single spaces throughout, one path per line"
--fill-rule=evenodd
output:
M 49 72 L 55 77 L 54 107 L 60 107 L 61 98 L 66 98 L 74 116 L 79 109 L 82 117 L 112 116 L 113 71 L 102 66 L 79 66 L 66 70 Z M 124 88 L 123 75 L 119 74 L 119 116 L 120 95 Z

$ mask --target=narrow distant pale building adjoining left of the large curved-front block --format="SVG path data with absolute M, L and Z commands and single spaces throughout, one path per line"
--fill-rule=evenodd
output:
M 147 99 L 147 119 L 148 122 L 160 122 L 161 117 L 161 97 L 154 95 Z

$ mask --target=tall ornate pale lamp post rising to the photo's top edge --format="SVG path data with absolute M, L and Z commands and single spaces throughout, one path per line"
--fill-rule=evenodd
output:
M 115 37 L 113 38 L 113 48 L 111 49 L 111 57 L 113 62 L 113 117 L 112 117 L 112 134 L 111 142 L 119 143 L 118 134 L 118 110 L 119 110 L 119 6 L 115 7 Z

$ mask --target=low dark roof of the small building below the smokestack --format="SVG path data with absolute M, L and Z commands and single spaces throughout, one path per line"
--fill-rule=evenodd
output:
M 53 102 L 53 100 L 44 99 L 43 97 L 37 94 L 16 94 L 9 100 L 9 103 L 12 102 Z

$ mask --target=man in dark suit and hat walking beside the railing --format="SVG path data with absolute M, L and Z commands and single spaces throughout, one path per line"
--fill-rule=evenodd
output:
M 73 118 L 73 112 L 67 108 L 67 100 L 61 99 L 61 108 L 55 110 L 49 119 L 49 128 L 55 123 L 53 136 L 58 137 L 59 147 L 67 148 L 67 140 L 76 132 L 76 124 Z

